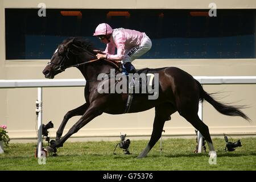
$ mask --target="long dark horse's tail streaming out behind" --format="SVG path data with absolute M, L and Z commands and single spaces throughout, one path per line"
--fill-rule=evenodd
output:
M 200 100 L 202 102 L 205 99 L 221 114 L 230 115 L 230 116 L 240 116 L 242 118 L 245 118 L 247 121 L 251 121 L 251 119 L 247 117 L 247 115 L 240 110 L 240 109 L 245 109 L 245 106 L 229 106 L 229 105 L 217 102 L 210 96 L 212 94 L 208 94 L 207 92 L 204 91 L 203 86 L 200 84 L 199 81 L 196 80 L 196 82 L 200 89 Z

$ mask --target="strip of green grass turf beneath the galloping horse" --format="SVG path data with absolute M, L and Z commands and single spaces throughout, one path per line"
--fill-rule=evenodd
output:
M 66 142 L 58 156 L 46 158 L 46 165 L 39 165 L 34 156 L 36 144 L 11 143 L 0 154 L 0 170 L 256 170 L 256 138 L 242 138 L 242 147 L 233 152 L 224 152 L 224 139 L 214 138 L 216 165 L 208 163 L 208 151 L 193 153 L 195 139 L 163 139 L 162 154 L 158 142 L 146 158 L 137 159 L 147 142 L 131 140 L 131 155 L 118 147 L 113 155 L 117 142 Z

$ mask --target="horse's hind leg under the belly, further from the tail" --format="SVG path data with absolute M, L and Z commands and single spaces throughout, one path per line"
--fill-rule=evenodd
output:
M 175 111 L 176 110 L 173 109 L 173 106 L 171 104 L 163 104 L 155 107 L 155 119 L 151 138 L 146 148 L 144 148 L 138 158 L 144 158 L 151 150 L 151 148 L 154 147 L 155 143 L 158 142 L 159 138 L 162 135 L 164 123 L 169 120 L 170 115 L 172 113 L 175 113 Z

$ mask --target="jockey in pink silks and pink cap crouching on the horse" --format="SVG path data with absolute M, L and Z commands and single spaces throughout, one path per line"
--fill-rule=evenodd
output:
M 131 61 L 141 57 L 152 46 L 150 38 L 144 32 L 125 28 L 112 29 L 107 23 L 99 24 L 93 36 L 97 36 L 107 45 L 103 52 L 105 54 L 98 51 L 97 58 L 121 61 L 126 75 L 136 73 Z M 115 54 L 115 48 L 117 48 L 117 54 Z

